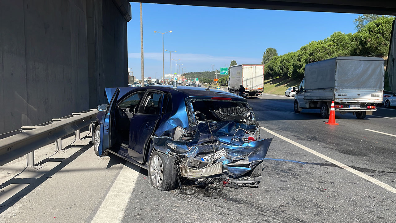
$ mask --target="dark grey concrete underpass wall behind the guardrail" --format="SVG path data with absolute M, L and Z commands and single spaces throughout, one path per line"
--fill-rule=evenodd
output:
M 127 86 L 117 3 L 0 0 L 0 134 L 94 108 L 104 87 Z

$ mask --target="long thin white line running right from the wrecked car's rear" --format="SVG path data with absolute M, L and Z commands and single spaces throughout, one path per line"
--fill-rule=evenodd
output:
M 323 155 L 323 154 L 321 154 L 319 152 L 316 152 L 315 150 L 312 150 L 312 149 L 308 148 L 307 146 L 303 146 L 303 145 L 299 144 L 298 142 L 294 142 L 293 140 L 288 139 L 288 138 L 286 138 L 284 136 L 281 136 L 278 133 L 274 133 L 273 131 L 271 131 L 269 129 L 266 129 L 264 127 L 261 127 L 261 129 L 267 131 L 268 133 L 270 133 L 270 134 L 272 134 L 272 135 L 274 135 L 274 136 L 276 136 L 278 138 L 282 138 L 286 142 L 289 142 L 289 143 L 291 143 L 291 144 L 293 144 L 295 146 L 298 146 L 298 147 L 302 148 L 303 150 L 306 150 L 306 151 L 308 151 L 308 152 L 310 152 L 310 153 L 312 153 L 312 154 L 314 154 L 314 155 L 316 155 L 316 156 L 318 156 L 318 157 L 320 157 L 320 158 L 322 158 L 324 160 L 329 161 L 330 163 L 333 163 L 333 164 L 335 164 L 335 165 L 337 165 L 337 166 L 339 166 L 339 167 L 341 167 L 343 169 L 346 169 L 347 171 L 349 171 L 349 172 L 351 172 L 353 174 L 356 174 L 359 177 L 362 177 L 363 179 L 366 179 L 367 181 L 370 181 L 371 183 L 374 183 L 374 184 L 376 184 L 378 186 L 381 186 L 382 188 L 385 188 L 386 190 L 389 190 L 390 192 L 396 194 L 396 188 L 393 188 L 392 186 L 389 186 L 386 183 L 383 183 L 382 181 L 379 181 L 379 180 L 377 180 L 377 179 L 375 179 L 373 177 L 370 177 L 369 175 L 366 175 L 366 174 L 364 174 L 364 173 L 362 173 L 360 171 L 357 171 L 356 169 L 353 169 L 352 167 L 349 167 L 349 166 L 347 166 L 347 165 L 345 165 L 343 163 L 340 163 L 337 160 L 333 160 L 333 159 L 329 158 L 328 156 L 325 156 L 325 155 Z

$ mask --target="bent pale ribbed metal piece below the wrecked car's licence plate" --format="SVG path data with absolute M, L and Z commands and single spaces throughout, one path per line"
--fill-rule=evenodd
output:
M 223 173 L 223 164 L 221 162 L 216 163 L 210 167 L 201 169 L 191 168 L 184 164 L 180 165 L 180 175 L 189 179 L 208 177 Z

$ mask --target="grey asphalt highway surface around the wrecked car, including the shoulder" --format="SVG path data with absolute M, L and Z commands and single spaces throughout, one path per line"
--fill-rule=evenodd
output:
M 0 220 L 396 222 L 390 191 L 396 188 L 396 110 L 379 109 L 364 120 L 336 113 L 339 125 L 331 126 L 318 110 L 294 113 L 293 98 L 265 94 L 248 101 L 268 129 L 261 137 L 274 137 L 259 188 L 225 188 L 217 198 L 192 186 L 162 192 L 149 185 L 147 171 L 116 156 L 95 156 L 86 138 L 58 154 L 57 164 L 13 177 L 27 186 L 0 205 Z

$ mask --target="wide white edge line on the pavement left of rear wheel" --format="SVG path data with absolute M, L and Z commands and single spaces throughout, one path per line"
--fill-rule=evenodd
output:
M 132 165 L 127 161 L 122 167 L 91 223 L 121 222 L 139 175 L 139 169 L 132 169 Z

